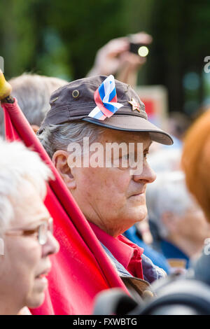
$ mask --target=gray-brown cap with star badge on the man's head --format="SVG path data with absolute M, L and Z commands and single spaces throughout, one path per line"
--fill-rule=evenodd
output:
M 118 103 L 123 106 L 105 120 L 89 117 L 95 108 L 94 92 L 107 76 L 92 76 L 72 81 L 59 87 L 50 97 L 51 109 L 48 111 L 38 134 L 48 125 L 68 123 L 74 120 L 85 120 L 95 125 L 113 130 L 130 132 L 149 132 L 151 139 L 165 145 L 172 145 L 173 139 L 167 132 L 148 121 L 144 103 L 130 85 L 115 80 Z

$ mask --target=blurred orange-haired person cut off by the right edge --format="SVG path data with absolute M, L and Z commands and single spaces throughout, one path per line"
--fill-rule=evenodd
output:
M 186 134 L 181 165 L 186 185 L 210 223 L 210 110 L 202 114 Z M 200 231 L 199 228 L 197 230 Z M 195 263 L 195 277 L 210 284 L 210 233 L 204 240 L 202 256 Z

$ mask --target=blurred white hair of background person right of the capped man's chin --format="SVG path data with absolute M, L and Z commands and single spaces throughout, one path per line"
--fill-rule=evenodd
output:
M 188 192 L 185 176 L 181 171 L 162 172 L 146 189 L 146 205 L 149 221 L 155 223 L 158 235 L 167 237 L 167 228 L 161 221 L 162 214 L 170 211 L 183 216 L 193 204 L 193 197 Z

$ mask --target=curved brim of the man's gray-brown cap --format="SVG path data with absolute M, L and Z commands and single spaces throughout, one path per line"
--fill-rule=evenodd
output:
M 106 118 L 104 121 L 94 118 L 83 118 L 88 123 L 94 123 L 102 127 L 107 127 L 113 130 L 122 130 L 127 132 L 148 132 L 152 141 L 164 145 L 172 145 L 174 141 L 172 137 L 160 128 L 150 123 L 148 120 L 139 116 L 123 116 L 115 115 L 111 118 Z

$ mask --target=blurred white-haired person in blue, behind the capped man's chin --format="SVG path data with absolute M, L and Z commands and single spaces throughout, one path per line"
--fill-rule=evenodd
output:
M 148 186 L 146 200 L 149 221 L 156 226 L 153 240 L 159 251 L 171 267 L 188 268 L 190 260 L 200 255 L 210 225 L 188 192 L 183 172 L 159 173 Z

